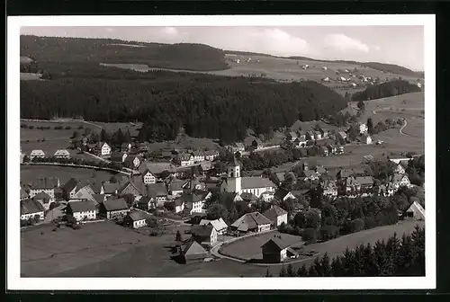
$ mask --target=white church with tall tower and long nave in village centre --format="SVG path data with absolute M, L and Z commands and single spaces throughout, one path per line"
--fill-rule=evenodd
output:
M 220 191 L 251 193 L 259 198 L 266 191 L 274 192 L 275 183 L 263 177 L 240 177 L 240 164 L 235 157 L 227 164 L 227 178 L 220 184 Z

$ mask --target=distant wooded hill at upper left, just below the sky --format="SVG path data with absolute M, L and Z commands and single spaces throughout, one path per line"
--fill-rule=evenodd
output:
M 221 49 L 189 43 L 21 36 L 21 56 L 34 59 L 43 70 L 50 63 L 146 64 L 202 71 L 228 68 Z

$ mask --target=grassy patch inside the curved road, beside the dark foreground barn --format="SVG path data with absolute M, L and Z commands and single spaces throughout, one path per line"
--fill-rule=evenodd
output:
M 239 257 L 243 259 L 263 259 L 261 252 L 261 245 L 266 244 L 270 238 L 275 235 L 281 235 L 285 243 L 291 245 L 301 245 L 302 237 L 296 235 L 282 234 L 278 231 L 270 232 L 261 235 L 254 235 L 247 238 L 242 238 L 221 248 L 221 252 L 230 257 Z

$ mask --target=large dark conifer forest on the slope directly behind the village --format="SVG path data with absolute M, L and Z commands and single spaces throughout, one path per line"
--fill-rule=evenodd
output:
M 320 120 L 347 107 L 340 94 L 312 81 L 287 84 L 166 71 L 140 76 L 146 78 L 85 75 L 22 81 L 21 118 L 81 115 L 102 122 L 139 120 L 144 122 L 140 141 L 173 139 L 184 128 L 191 137 L 229 143 L 243 139 L 248 128 L 267 134 L 295 120 Z

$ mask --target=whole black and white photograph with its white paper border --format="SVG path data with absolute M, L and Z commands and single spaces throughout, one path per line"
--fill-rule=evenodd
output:
M 433 15 L 10 17 L 7 46 L 12 289 L 436 287 Z

